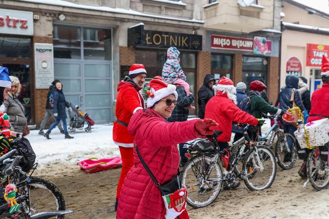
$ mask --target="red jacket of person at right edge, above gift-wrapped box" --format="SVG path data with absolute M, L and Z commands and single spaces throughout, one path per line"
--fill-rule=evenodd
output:
M 329 84 L 323 84 L 322 88 L 313 92 L 311 99 L 311 111 L 307 122 L 325 118 L 321 116 L 312 116 L 312 114 L 329 116 Z

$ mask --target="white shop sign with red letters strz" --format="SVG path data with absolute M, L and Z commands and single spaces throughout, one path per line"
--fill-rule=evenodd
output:
M 0 33 L 33 36 L 33 12 L 0 8 Z

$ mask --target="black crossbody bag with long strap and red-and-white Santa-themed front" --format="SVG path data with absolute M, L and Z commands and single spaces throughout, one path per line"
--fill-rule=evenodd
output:
M 150 168 L 145 164 L 141 154 L 138 151 L 137 145 L 135 149 L 139 160 L 143 164 L 145 170 L 149 173 L 154 183 L 158 186 L 165 207 L 165 219 L 175 219 L 186 210 L 187 190 L 180 182 L 179 173 L 175 175 L 169 182 L 160 185 L 157 178 L 154 176 Z M 179 172 L 179 171 L 178 171 Z

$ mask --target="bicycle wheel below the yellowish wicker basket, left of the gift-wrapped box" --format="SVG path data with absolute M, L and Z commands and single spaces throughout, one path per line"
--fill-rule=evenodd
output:
M 296 139 L 288 133 L 284 133 L 284 135 L 287 141 L 292 142 L 290 154 L 287 153 L 287 145 L 285 144 L 285 139 L 283 137 L 280 137 L 277 139 L 275 144 L 275 157 L 277 159 L 277 164 L 282 169 L 291 169 L 296 163 L 297 158 Z

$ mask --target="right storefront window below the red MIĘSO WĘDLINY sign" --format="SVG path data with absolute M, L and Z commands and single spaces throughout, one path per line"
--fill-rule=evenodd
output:
M 266 57 L 243 56 L 242 57 L 242 81 L 249 87 L 250 82 L 263 79 L 267 84 Z

